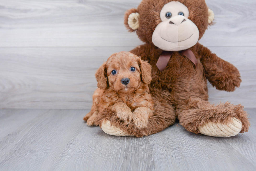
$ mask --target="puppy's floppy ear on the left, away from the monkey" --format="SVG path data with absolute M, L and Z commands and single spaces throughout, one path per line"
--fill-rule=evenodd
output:
M 107 68 L 106 68 L 106 62 L 100 66 L 100 68 L 96 71 L 95 74 L 96 80 L 98 81 L 97 86 L 100 89 L 106 89 L 107 88 Z

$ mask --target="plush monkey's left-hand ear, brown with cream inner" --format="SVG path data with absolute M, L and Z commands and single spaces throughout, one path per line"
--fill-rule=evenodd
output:
M 124 14 L 124 24 L 129 32 L 134 32 L 139 28 L 139 11 L 135 8 L 129 9 Z

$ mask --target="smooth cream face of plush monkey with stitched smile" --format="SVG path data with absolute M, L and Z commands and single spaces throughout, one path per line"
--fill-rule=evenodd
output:
M 164 5 L 160 12 L 161 22 L 155 28 L 152 42 L 165 51 L 180 51 L 194 46 L 199 39 L 199 30 L 188 19 L 189 10 L 180 2 Z

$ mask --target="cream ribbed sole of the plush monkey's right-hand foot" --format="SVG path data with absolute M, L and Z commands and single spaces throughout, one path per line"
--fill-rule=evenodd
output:
M 228 124 L 208 122 L 198 129 L 201 134 L 212 137 L 232 137 L 241 131 L 242 122 L 233 117 Z

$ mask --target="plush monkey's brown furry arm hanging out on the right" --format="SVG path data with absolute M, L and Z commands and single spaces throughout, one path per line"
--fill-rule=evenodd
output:
M 230 92 L 240 86 L 241 76 L 234 65 L 219 58 L 199 43 L 197 43 L 197 53 L 201 57 L 206 78 L 216 89 Z

